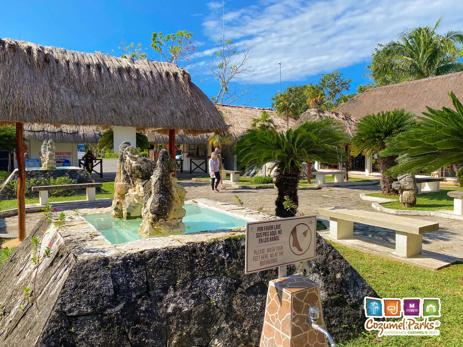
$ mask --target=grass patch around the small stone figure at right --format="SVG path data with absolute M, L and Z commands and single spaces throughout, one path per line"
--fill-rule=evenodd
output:
M 395 210 L 419 210 L 419 211 L 437 211 L 437 210 L 451 210 L 453 211 L 453 198 L 447 196 L 449 191 L 463 192 L 463 188 L 458 187 L 440 187 L 440 192 L 435 193 L 421 193 L 416 196 L 416 207 L 405 207 L 399 201 L 399 195 L 384 195 L 382 193 L 367 193 L 365 195 L 374 196 L 378 198 L 396 199 L 382 206 L 395 209 Z

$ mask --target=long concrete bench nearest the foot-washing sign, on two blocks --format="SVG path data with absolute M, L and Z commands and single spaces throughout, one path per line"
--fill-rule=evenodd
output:
M 403 258 L 420 254 L 422 234 L 439 229 L 439 223 L 344 207 L 322 208 L 319 214 L 330 217 L 330 237 L 334 240 L 352 239 L 354 222 L 395 230 L 395 253 Z

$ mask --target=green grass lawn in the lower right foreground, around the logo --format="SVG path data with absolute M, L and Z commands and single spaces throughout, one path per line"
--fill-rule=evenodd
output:
M 332 245 L 360 273 L 380 297 L 439 297 L 440 335 L 435 337 L 383 336 L 364 333 L 337 346 L 348 347 L 450 347 L 463 346 L 463 265 L 439 271 L 403 265 L 393 260 L 359 252 L 336 243 Z

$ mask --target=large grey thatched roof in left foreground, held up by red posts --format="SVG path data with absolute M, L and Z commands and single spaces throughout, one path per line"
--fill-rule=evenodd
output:
M 0 122 L 226 130 L 184 69 L 0 39 Z

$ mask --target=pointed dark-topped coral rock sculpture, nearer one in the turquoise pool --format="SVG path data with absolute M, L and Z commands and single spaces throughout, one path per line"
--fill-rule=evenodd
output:
M 168 151 L 163 149 L 159 153 L 156 170 L 151 176 L 150 188 L 145 186 L 145 204 L 143 222 L 138 235 L 148 237 L 152 235 L 172 235 L 185 232 L 182 218 L 186 211 L 183 209 L 186 191 L 177 184 L 172 177 L 177 167 Z

